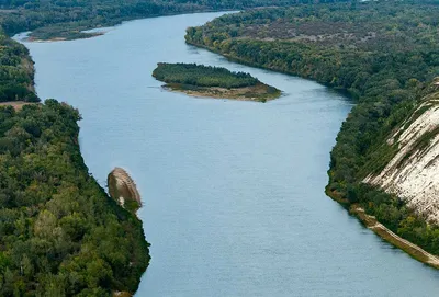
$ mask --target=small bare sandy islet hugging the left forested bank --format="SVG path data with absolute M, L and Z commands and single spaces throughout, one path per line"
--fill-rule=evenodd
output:
M 116 199 L 121 206 L 127 202 L 136 202 L 142 206 L 140 194 L 130 174 L 122 168 L 115 168 L 108 176 L 110 196 Z

